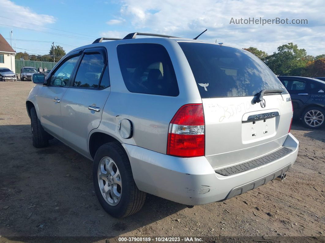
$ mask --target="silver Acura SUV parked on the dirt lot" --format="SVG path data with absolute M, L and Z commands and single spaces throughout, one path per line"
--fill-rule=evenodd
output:
M 93 161 L 109 214 L 136 213 L 146 193 L 191 207 L 285 178 L 298 153 L 291 98 L 256 56 L 156 34 L 105 39 L 34 74 L 26 107 L 35 147 L 55 137 Z

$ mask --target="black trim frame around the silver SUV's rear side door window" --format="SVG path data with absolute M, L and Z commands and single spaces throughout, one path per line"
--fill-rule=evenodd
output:
M 76 87 L 76 86 L 73 86 L 73 83 L 75 81 L 75 78 L 76 78 L 77 73 L 78 73 L 78 70 L 79 70 L 79 67 L 81 65 L 81 62 L 82 62 L 84 56 L 85 56 L 85 53 L 86 54 L 95 54 L 96 53 L 96 54 L 100 54 L 100 55 L 103 56 L 104 67 L 103 67 L 103 70 L 102 70 L 102 72 L 100 74 L 100 77 L 99 77 L 98 88 L 95 88 L 95 89 L 94 88 L 90 88 L 90 87 Z M 74 73 L 72 75 L 71 81 L 69 83 L 69 88 L 72 88 L 72 89 L 84 89 L 84 90 L 104 90 L 104 89 L 109 88 L 110 85 L 108 87 L 106 87 L 106 88 L 99 88 L 106 67 L 109 67 L 109 66 L 108 66 L 107 51 L 106 51 L 106 48 L 105 47 L 103 47 L 103 46 L 96 46 L 96 47 L 89 47 L 89 48 L 84 49 L 82 55 L 80 55 L 78 64 L 77 64 L 77 66 L 75 68 L 75 71 L 74 71 Z M 110 79 L 110 70 L 108 70 L 108 78 Z

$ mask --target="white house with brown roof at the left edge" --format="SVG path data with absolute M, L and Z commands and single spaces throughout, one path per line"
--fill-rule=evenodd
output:
M 16 52 L 5 38 L 0 34 L 0 67 L 7 67 L 11 71 L 16 72 L 15 70 L 15 55 Z

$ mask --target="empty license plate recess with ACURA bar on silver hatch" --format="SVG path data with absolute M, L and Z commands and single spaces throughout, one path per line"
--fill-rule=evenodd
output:
M 252 117 L 256 117 L 252 119 Z M 242 143 L 265 140 L 276 135 L 279 124 L 279 112 L 263 114 L 245 114 L 241 124 Z

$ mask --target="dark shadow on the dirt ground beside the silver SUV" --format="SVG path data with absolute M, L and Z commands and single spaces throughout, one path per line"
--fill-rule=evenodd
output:
M 56 139 L 50 140 L 46 148 L 34 148 L 30 129 L 30 125 L 0 126 L 0 235 L 3 238 L 106 239 L 128 232 L 132 236 L 154 235 L 151 224 L 158 224 L 157 221 L 186 208 L 147 194 L 140 212 L 123 219 L 111 217 L 95 195 L 92 162 Z

